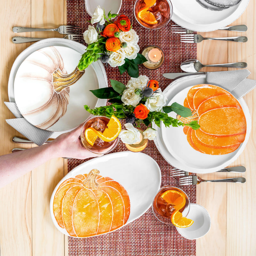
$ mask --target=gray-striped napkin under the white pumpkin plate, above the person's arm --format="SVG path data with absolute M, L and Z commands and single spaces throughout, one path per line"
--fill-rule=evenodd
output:
M 48 140 L 54 132 L 42 130 L 30 124 L 20 113 L 15 102 L 4 102 L 4 104 L 11 110 L 17 118 L 6 119 L 7 124 L 10 124 L 15 130 L 20 132 L 26 138 L 34 142 L 36 145 L 41 146 Z

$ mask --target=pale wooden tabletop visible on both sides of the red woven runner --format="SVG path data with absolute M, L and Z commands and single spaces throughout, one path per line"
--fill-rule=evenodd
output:
M 81 0 L 82 1 L 82 0 Z M 1 61 L 0 61 L 0 155 L 11 153 L 12 148 L 25 148 L 12 142 L 21 136 L 5 119 L 13 118 L 5 107 L 8 101 L 7 84 L 12 64 L 26 49 L 27 44 L 13 44 L 13 26 L 56 28 L 66 24 L 66 1 L 63 0 L 1 0 Z M 256 79 L 256 0 L 251 0 L 243 15 L 232 25 L 245 24 L 244 33 L 213 31 L 203 36 L 222 37 L 243 35 L 247 43 L 204 41 L 197 44 L 197 59 L 204 64 L 245 61 Z M 63 37 L 57 32 L 27 32 L 19 36 Z M 202 71 L 213 71 L 204 69 Z M 225 68 L 214 69 L 227 70 Z M 197 186 L 197 203 L 210 213 L 210 232 L 196 241 L 197 256 L 256 255 L 256 119 L 253 116 L 256 90 L 248 93 L 246 101 L 252 115 L 252 132 L 242 155 L 231 165 L 244 165 L 245 184 L 203 183 Z M 0 166 L 1 168 L 1 166 Z M 53 189 L 67 173 L 63 158 L 51 160 L 18 180 L 0 189 L 0 252 L 9 255 L 68 255 L 68 239 L 54 227 L 49 214 Z M 230 173 L 200 175 L 204 179 L 239 176 Z M 240 175 L 241 176 L 241 175 Z M 92 248 L 93 249 L 93 248 Z M 113 254 L 114 255 L 114 254 Z

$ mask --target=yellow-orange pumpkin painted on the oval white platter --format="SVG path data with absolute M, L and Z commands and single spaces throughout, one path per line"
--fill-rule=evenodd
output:
M 130 215 L 127 191 L 97 169 L 60 184 L 53 199 L 58 225 L 70 236 L 88 237 L 122 227 Z

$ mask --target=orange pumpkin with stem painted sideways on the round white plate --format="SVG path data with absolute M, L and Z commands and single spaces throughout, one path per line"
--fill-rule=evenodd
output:
M 219 86 L 198 84 L 193 86 L 184 100 L 192 116 L 177 116 L 183 123 L 197 120 L 200 129 L 185 126 L 183 132 L 188 143 L 195 150 L 210 154 L 224 155 L 235 151 L 244 141 L 246 119 L 236 98 Z

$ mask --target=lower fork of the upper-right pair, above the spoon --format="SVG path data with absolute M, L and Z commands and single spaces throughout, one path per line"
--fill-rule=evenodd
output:
M 248 41 L 246 36 L 230 36 L 230 37 L 203 37 L 198 34 L 180 35 L 180 42 L 183 43 L 201 43 L 203 40 L 221 40 L 245 43 Z

